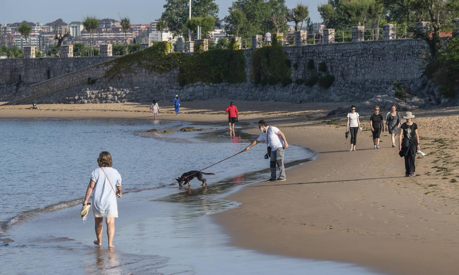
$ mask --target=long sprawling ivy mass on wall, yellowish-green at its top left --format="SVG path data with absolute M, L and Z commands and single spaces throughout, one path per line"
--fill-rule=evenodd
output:
M 120 56 L 111 61 L 112 68 L 105 76 L 113 78 L 120 73 L 135 74 L 134 67 L 158 73 L 179 68 L 180 85 L 195 82 L 241 83 L 246 82 L 246 62 L 242 50 L 197 50 L 194 55 L 169 53 L 171 44 L 158 42 L 138 52 Z

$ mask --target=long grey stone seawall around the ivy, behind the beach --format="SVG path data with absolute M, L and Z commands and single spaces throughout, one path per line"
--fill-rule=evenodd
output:
M 252 49 L 244 50 L 247 82 L 240 84 L 178 84 L 178 70 L 156 73 L 135 67 L 134 73 L 113 79 L 104 77 L 107 66 L 92 66 L 32 85 L 39 103 L 150 102 L 230 98 L 291 102 L 363 101 L 392 90 L 392 82 L 410 85 L 425 68 L 427 45 L 419 39 L 394 39 L 359 43 L 317 44 L 284 47 L 291 60 L 291 78 L 306 80 L 311 76 L 333 75 L 330 88 L 319 85 L 254 85 L 250 82 Z M 312 60 L 312 61 L 311 61 Z M 312 62 L 312 63 L 311 63 Z M 319 64 L 325 63 L 325 71 Z M 311 64 L 313 66 L 311 66 Z M 88 83 L 88 77 L 94 83 Z M 56 91 L 59 91 L 55 93 Z

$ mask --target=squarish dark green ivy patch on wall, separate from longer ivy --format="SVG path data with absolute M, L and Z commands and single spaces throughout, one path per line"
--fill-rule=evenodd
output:
M 251 79 L 255 84 L 290 84 L 291 62 L 274 35 L 272 45 L 256 49 L 252 53 Z

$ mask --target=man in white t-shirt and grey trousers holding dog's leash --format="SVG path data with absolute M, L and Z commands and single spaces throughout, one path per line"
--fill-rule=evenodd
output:
M 271 168 L 271 178 L 268 181 L 285 181 L 284 151 L 288 148 L 288 143 L 285 139 L 284 133 L 277 127 L 268 126 L 268 123 L 266 123 L 263 119 L 258 121 L 258 129 L 260 129 L 261 132 L 260 136 L 250 143 L 250 145 L 244 149 L 244 152 L 252 146 L 268 140 L 268 146 L 271 147 L 269 162 L 269 167 Z M 280 171 L 278 178 L 276 178 L 276 164 Z

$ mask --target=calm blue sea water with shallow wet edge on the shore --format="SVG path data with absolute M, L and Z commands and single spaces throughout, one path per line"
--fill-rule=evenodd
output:
M 178 132 L 184 126 L 205 130 Z M 151 128 L 158 133 L 145 132 Z M 205 176 L 207 188 L 197 180 L 190 188 L 175 184 L 183 172 L 238 153 L 256 136 L 237 130 L 230 136 L 224 126 L 129 119 L 0 119 L 0 136 L 0 273 L 372 274 L 351 264 L 226 245 L 229 236 L 209 214 L 237 206 L 224 195 L 269 177 L 264 146 L 207 169 L 216 173 Z M 85 225 L 79 218 L 102 150 L 123 177 L 113 250 L 91 245 L 92 214 Z M 292 146 L 287 166 L 314 157 Z

